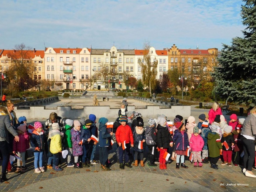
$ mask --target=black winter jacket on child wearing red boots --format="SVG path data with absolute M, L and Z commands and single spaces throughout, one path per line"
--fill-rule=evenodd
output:
M 173 142 L 168 128 L 158 125 L 157 126 L 157 147 L 167 149 L 170 143 Z

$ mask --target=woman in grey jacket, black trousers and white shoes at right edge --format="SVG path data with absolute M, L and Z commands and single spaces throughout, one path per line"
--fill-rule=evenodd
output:
M 252 173 L 252 166 L 255 160 L 255 143 L 256 138 L 256 107 L 250 111 L 250 114 L 246 117 L 243 122 L 243 129 L 241 132 L 241 140 L 243 142 L 243 162 L 245 167 L 243 173 L 245 176 L 256 178 L 256 175 Z

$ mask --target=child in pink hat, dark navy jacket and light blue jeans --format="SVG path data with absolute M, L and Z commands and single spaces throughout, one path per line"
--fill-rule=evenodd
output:
M 45 134 L 42 131 L 42 123 L 35 122 L 34 123 L 35 130 L 32 133 L 30 138 L 30 145 L 31 147 L 35 148 L 34 151 L 34 166 L 35 166 L 35 173 L 44 172 L 44 167 L 42 166 L 42 155 L 44 153 L 44 144 L 45 144 Z M 39 168 L 38 168 L 39 162 Z

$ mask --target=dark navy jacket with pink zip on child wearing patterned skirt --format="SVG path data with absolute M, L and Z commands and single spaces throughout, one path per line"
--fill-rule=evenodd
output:
M 176 150 L 178 151 L 185 151 L 187 150 L 187 147 L 190 147 L 188 134 L 185 131 L 181 133 L 181 131 L 177 129 L 174 133 L 173 141 L 175 143 Z

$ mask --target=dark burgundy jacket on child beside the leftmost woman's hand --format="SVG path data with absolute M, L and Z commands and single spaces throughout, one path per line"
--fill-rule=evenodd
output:
M 29 136 L 27 131 L 24 134 L 18 134 L 20 140 L 16 142 L 13 140 L 13 151 L 25 152 L 29 148 Z

